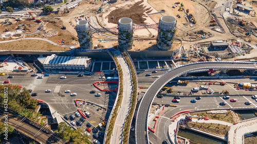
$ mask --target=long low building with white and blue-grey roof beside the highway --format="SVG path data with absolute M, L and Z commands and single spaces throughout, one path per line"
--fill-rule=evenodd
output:
M 47 57 L 39 57 L 38 60 L 45 69 L 61 70 L 89 70 L 91 58 L 75 56 L 57 56 L 52 54 Z

